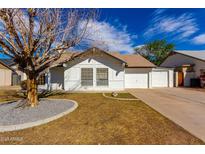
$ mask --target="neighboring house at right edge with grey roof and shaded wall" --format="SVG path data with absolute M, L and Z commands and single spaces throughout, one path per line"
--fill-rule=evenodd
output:
M 175 86 L 204 86 L 205 51 L 174 51 L 161 66 L 175 69 Z

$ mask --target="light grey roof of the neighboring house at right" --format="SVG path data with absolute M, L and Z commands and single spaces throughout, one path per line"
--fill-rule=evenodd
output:
M 205 61 L 205 50 L 198 50 L 198 51 L 186 51 L 186 50 L 176 50 L 175 53 L 182 54 L 185 56 L 189 56 L 195 59 L 199 59 Z

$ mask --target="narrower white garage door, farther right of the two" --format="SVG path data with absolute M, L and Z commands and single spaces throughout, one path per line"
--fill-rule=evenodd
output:
M 168 87 L 168 72 L 153 71 L 152 72 L 152 87 Z

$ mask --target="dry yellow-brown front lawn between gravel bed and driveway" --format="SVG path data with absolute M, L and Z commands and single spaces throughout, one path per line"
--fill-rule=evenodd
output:
M 73 99 L 72 113 L 34 128 L 0 133 L 22 137 L 1 144 L 204 144 L 141 101 L 107 99 L 101 93 L 52 96 Z

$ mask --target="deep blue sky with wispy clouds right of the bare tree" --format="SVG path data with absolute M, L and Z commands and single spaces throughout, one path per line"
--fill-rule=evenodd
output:
M 104 24 L 101 27 L 107 33 L 103 34 L 104 39 L 121 42 L 124 50 L 155 39 L 166 39 L 180 50 L 205 49 L 205 9 L 100 9 L 100 12 L 98 24 Z

